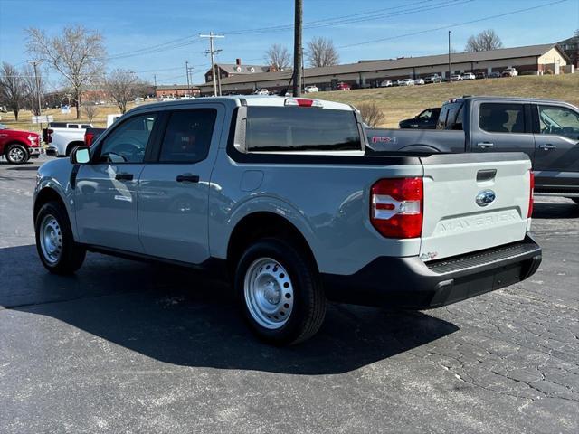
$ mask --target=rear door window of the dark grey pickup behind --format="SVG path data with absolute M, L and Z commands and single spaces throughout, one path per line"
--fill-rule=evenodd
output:
M 494 102 L 480 104 L 479 127 L 489 133 L 524 133 L 524 106 Z

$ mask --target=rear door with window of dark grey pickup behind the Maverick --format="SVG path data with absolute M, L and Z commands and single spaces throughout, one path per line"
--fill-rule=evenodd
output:
M 530 105 L 475 101 L 471 116 L 470 152 L 524 152 L 533 161 Z

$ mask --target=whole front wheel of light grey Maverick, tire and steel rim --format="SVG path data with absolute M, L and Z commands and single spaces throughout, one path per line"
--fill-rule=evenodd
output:
M 81 268 L 86 250 L 74 241 L 66 210 L 61 203 L 45 203 L 35 219 L 36 250 L 43 266 L 55 274 Z

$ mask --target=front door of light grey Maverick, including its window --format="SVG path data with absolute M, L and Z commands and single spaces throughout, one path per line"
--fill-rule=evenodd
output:
M 81 242 L 141 253 L 138 240 L 138 177 L 157 114 L 127 118 L 95 149 L 76 177 L 74 201 Z

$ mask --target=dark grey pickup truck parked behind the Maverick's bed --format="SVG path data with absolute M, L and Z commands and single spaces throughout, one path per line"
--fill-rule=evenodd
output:
M 579 203 L 579 109 L 554 99 L 463 97 L 442 105 L 436 129 L 366 130 L 375 151 L 525 152 L 535 193 Z

